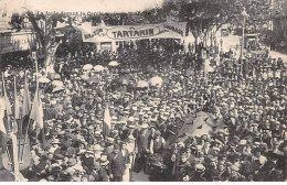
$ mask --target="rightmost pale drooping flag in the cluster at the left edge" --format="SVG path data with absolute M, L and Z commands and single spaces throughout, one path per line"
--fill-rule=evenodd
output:
M 36 87 L 30 119 L 34 120 L 36 124 L 40 127 L 40 129 L 43 129 L 43 124 L 44 124 L 43 118 L 44 118 L 44 113 L 43 113 L 41 96 L 40 96 L 39 87 Z

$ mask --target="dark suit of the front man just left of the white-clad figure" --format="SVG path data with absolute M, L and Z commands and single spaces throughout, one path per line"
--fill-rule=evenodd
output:
M 108 161 L 109 161 L 110 172 L 114 176 L 114 181 L 121 182 L 126 168 L 126 160 L 123 156 L 121 152 L 118 153 L 111 152 L 108 155 Z

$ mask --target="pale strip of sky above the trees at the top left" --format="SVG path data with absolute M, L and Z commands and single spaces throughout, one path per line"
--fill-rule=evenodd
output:
M 163 0 L 0 0 L 7 3 L 7 10 L 20 11 L 26 7 L 32 11 L 57 12 L 130 12 L 161 7 Z

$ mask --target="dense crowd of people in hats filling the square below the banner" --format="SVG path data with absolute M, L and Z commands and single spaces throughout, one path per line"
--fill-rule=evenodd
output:
M 180 46 L 92 50 L 56 58 L 59 75 L 40 83 L 45 135 L 29 126 L 24 178 L 127 182 L 142 171 L 150 181 L 284 181 L 287 78 L 280 58 L 210 51 L 203 59 L 195 47 Z M 10 72 L 4 79 L 12 99 Z M 33 95 L 35 75 L 26 75 Z M 221 128 L 187 132 L 182 140 L 178 131 L 198 112 Z

